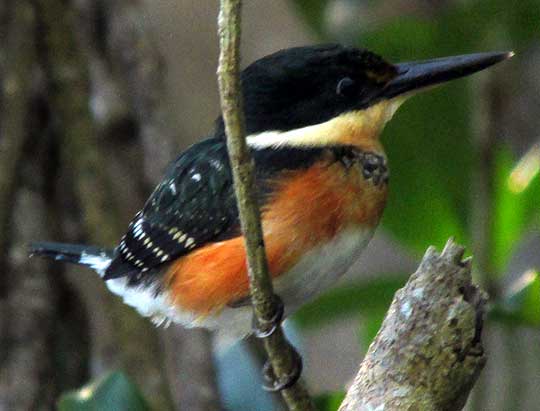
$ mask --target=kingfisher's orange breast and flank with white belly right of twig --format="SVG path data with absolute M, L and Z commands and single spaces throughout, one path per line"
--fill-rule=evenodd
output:
M 276 184 L 262 210 L 264 239 L 276 291 L 292 308 L 331 286 L 358 258 L 380 220 L 386 184 L 364 180 L 359 167 L 326 161 L 282 175 Z M 213 322 L 249 295 L 243 239 L 179 258 L 165 285 L 178 310 Z

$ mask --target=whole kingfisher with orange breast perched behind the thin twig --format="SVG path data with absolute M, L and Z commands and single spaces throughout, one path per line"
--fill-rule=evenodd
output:
M 388 192 L 379 139 L 408 97 L 511 52 L 391 64 L 361 48 L 278 51 L 241 73 L 247 144 L 283 316 L 336 283 L 373 236 Z M 35 243 L 88 266 L 157 324 L 252 332 L 246 253 L 223 119 L 168 167 L 115 248 Z M 281 320 L 281 318 L 280 318 Z

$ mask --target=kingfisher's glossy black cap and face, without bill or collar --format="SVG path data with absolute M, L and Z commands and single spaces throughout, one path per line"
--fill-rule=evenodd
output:
M 367 107 L 397 75 L 362 49 L 297 47 L 266 56 L 242 73 L 246 132 L 288 131 Z

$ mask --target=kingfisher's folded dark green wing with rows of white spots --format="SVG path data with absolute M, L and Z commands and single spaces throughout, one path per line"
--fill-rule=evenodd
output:
M 174 161 L 131 222 L 106 278 L 143 273 L 210 241 L 238 233 L 238 212 L 223 140 L 209 139 Z

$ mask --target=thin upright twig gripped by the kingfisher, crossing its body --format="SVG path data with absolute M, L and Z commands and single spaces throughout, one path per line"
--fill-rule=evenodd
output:
M 241 0 L 222 0 L 218 19 L 220 57 L 218 82 L 227 148 L 233 171 L 235 194 L 244 234 L 251 301 L 259 322 L 270 322 L 276 312 L 272 282 L 264 249 L 260 211 L 255 196 L 254 163 L 245 140 L 239 76 Z M 283 379 L 294 369 L 294 348 L 278 328 L 264 340 L 276 378 Z M 290 410 L 311 410 L 313 404 L 302 383 L 283 390 Z

